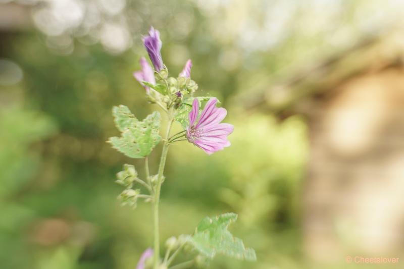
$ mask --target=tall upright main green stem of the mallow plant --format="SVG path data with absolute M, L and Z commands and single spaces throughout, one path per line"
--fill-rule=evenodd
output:
M 153 212 L 154 212 L 154 262 L 153 262 L 153 268 L 158 269 L 159 267 L 159 262 L 160 262 L 160 238 L 159 238 L 159 202 L 160 202 L 160 191 L 161 191 L 161 184 L 163 181 L 163 172 L 164 172 L 164 167 L 166 165 L 166 159 L 167 159 L 167 153 L 168 153 L 168 137 L 170 136 L 170 130 L 171 130 L 171 125 L 173 123 L 172 117 L 169 117 L 169 122 L 167 126 L 167 133 L 166 133 L 166 138 L 164 139 L 163 142 L 163 151 L 161 153 L 161 158 L 160 158 L 160 165 L 159 165 L 159 172 L 157 175 L 157 185 L 156 185 L 156 191 L 155 191 L 155 198 L 154 198 L 154 203 L 153 203 Z

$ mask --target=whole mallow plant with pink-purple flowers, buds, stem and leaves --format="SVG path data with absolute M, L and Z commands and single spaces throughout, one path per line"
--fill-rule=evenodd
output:
M 209 264 L 217 254 L 237 259 L 256 260 L 256 253 L 244 247 L 241 239 L 234 237 L 228 226 L 236 221 L 237 214 L 224 213 L 216 217 L 203 219 L 193 234 L 179 235 L 166 240 L 165 253 L 160 249 L 159 236 L 159 202 L 164 177 L 167 153 L 171 145 L 187 141 L 205 151 L 208 155 L 230 146 L 227 136 L 234 126 L 222 123 L 227 111 L 217 107 L 220 103 L 215 97 L 194 97 L 197 84 L 191 79 L 192 62 L 188 60 L 184 69 L 176 77 L 169 77 L 168 69 L 161 57 L 162 41 L 159 31 L 150 28 L 148 35 L 142 38 L 153 67 L 143 57 L 140 59 L 141 70 L 134 72 L 134 77 L 145 89 L 146 100 L 156 104 L 163 111 L 148 115 L 138 120 L 125 105 L 113 107 L 115 125 L 121 132 L 119 137 L 111 137 L 108 142 L 128 157 L 144 158 L 145 175 L 140 177 L 133 165 L 124 165 L 117 174 L 116 181 L 124 187 L 118 196 L 122 205 L 136 207 L 142 199 L 152 204 L 151 213 L 154 219 L 154 245 L 146 249 L 140 257 L 137 269 L 195 268 Z M 164 119 L 167 125 L 165 134 L 161 135 L 160 127 Z M 171 127 L 178 123 L 182 131 L 171 134 Z M 162 143 L 162 153 L 157 174 L 151 173 L 147 156 Z M 141 193 L 140 188 L 147 193 Z M 193 259 L 175 264 L 180 251 L 189 251 Z

